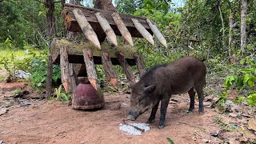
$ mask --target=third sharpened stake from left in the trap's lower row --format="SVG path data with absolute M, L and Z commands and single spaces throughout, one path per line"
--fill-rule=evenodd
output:
M 106 50 L 102 50 L 102 65 L 106 78 L 109 80 L 110 84 L 114 86 L 115 90 L 118 90 L 118 74 L 114 70 L 114 66 L 110 60 L 110 54 Z

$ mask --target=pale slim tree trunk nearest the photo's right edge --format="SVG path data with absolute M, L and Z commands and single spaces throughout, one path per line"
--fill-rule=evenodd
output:
M 246 50 L 246 14 L 247 14 L 247 0 L 242 0 L 241 5 L 241 50 L 242 53 Z

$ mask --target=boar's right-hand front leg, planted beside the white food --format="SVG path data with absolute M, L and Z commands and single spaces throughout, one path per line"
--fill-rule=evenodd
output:
M 159 128 L 162 129 L 165 126 L 165 122 L 166 122 L 166 110 L 168 107 L 170 101 L 170 96 L 164 96 L 161 99 L 161 116 L 160 116 L 160 122 L 159 122 Z

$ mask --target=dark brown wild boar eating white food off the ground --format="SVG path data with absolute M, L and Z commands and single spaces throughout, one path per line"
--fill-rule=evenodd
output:
M 132 86 L 130 110 L 128 118 L 135 120 L 146 110 L 151 110 L 149 123 L 154 122 L 159 102 L 159 128 L 166 121 L 166 109 L 172 94 L 190 95 L 189 111 L 194 111 L 195 91 L 199 99 L 199 114 L 203 113 L 203 86 L 206 85 L 206 66 L 198 58 L 184 57 L 165 65 L 156 66 L 142 75 L 142 78 Z M 194 91 L 195 90 L 195 91 Z

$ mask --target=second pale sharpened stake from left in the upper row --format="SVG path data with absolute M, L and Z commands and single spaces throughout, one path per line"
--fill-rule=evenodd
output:
M 106 37 L 110 38 L 110 41 L 113 42 L 115 46 L 118 46 L 117 36 L 114 34 L 114 30 L 111 28 L 106 18 L 104 18 L 100 12 L 95 13 L 95 16 L 98 19 L 99 24 L 102 26 L 102 30 L 106 33 Z

